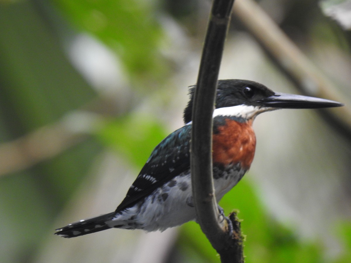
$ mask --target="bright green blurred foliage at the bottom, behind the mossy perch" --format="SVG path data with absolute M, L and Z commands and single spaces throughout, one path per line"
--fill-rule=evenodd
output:
M 220 205 L 227 213 L 233 207 L 240 210 L 238 217 L 243 220 L 241 230 L 246 236 L 245 262 L 323 262 L 321 245 L 299 240 L 291 229 L 270 218 L 245 178 Z M 216 251 L 194 222 L 182 227 L 178 246 L 186 254 L 197 255 L 194 262 L 219 262 Z

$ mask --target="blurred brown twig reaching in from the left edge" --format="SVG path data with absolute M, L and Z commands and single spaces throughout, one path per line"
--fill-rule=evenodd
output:
M 127 96 L 123 99 L 130 101 Z M 110 100 L 98 97 L 81 109 L 68 112 L 57 122 L 0 143 L 0 177 L 29 169 L 87 140 L 100 119 L 115 116 L 120 111 Z

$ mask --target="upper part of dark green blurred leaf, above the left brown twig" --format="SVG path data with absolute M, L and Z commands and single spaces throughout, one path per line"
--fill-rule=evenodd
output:
M 0 8 L 0 103 L 19 136 L 94 97 L 27 2 Z

